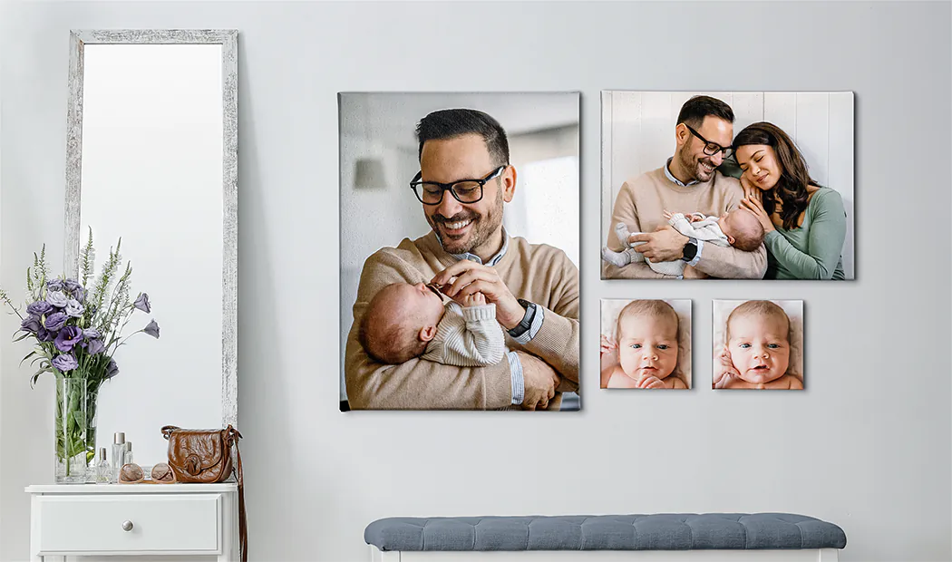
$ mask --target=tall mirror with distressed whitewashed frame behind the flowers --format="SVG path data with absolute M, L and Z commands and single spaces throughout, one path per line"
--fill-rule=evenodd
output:
M 90 230 L 95 275 L 121 238 L 151 304 L 123 334 L 161 328 L 116 351 L 97 448 L 125 432 L 152 465 L 162 426 L 237 427 L 237 168 L 237 31 L 71 32 L 65 271 Z

